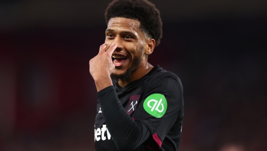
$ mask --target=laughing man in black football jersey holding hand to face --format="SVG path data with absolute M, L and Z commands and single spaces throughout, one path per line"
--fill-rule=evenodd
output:
M 96 150 L 178 150 L 181 81 L 148 63 L 162 36 L 159 11 L 146 0 L 115 0 L 105 18 L 105 44 L 90 60 L 98 91 Z

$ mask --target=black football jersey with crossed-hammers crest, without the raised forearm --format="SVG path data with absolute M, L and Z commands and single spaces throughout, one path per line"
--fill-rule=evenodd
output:
M 128 116 L 149 128 L 150 137 L 153 143 L 158 144 L 159 150 L 179 150 L 184 100 L 183 86 L 177 75 L 157 65 L 144 77 L 123 88 L 116 82 L 113 82 L 113 86 Z M 118 150 L 104 121 L 99 100 L 95 145 L 97 151 Z M 151 141 L 145 141 L 135 150 L 151 148 Z

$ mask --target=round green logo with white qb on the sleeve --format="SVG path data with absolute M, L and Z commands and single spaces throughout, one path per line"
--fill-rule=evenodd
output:
M 155 118 L 161 118 L 167 109 L 167 100 L 162 94 L 151 94 L 144 101 L 144 109 Z

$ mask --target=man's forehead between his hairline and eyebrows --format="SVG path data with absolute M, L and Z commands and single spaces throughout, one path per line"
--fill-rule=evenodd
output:
M 140 31 L 140 22 L 137 20 L 115 17 L 108 22 L 109 29 Z

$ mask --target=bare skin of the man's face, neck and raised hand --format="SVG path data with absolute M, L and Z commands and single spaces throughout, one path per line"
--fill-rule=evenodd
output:
M 154 50 L 155 40 L 145 36 L 139 26 L 139 21 L 128 18 L 115 17 L 109 20 L 105 44 L 100 46 L 98 55 L 89 62 L 98 92 L 112 85 L 111 73 L 123 75 L 127 70 L 132 71 L 128 78 L 118 81 L 124 87 L 142 78 L 153 68 L 148 63 L 148 55 Z M 112 55 L 126 59 L 122 63 L 114 63 Z

